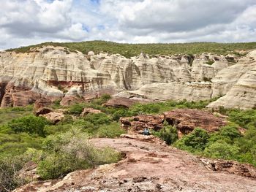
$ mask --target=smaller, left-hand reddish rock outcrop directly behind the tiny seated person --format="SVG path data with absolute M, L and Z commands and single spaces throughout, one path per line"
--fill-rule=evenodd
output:
M 120 118 L 121 126 L 129 131 L 142 131 L 144 128 L 154 129 L 162 128 L 162 115 L 138 115 L 129 118 Z

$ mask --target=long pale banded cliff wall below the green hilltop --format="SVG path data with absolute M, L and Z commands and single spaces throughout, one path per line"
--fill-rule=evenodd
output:
M 132 99 L 198 101 L 222 96 L 208 107 L 255 107 L 256 50 L 233 55 L 146 54 L 124 58 L 84 55 L 64 47 L 29 53 L 0 53 L 1 107 L 32 104 L 40 98 L 72 104 L 102 93 Z M 223 96 L 225 95 L 225 96 Z M 79 97 L 79 99 L 74 99 Z

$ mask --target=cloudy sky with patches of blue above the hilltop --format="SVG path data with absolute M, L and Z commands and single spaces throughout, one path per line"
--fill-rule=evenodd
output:
M 39 42 L 252 42 L 256 0 L 0 0 L 0 50 Z

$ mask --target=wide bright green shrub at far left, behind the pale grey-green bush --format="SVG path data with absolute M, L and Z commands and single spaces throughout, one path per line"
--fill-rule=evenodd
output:
M 45 137 L 45 125 L 49 124 L 48 120 L 42 117 L 29 115 L 23 118 L 12 120 L 8 123 L 8 127 L 15 133 L 37 134 L 40 137 Z

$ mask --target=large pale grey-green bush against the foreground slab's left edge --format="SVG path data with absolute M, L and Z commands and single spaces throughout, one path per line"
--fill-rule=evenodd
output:
M 77 169 L 118 161 L 121 156 L 109 148 L 97 149 L 88 141 L 88 135 L 78 129 L 45 139 L 45 158 L 39 161 L 37 172 L 42 179 L 62 177 Z

